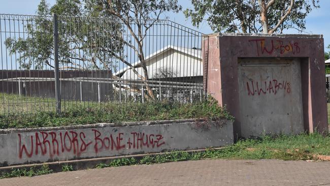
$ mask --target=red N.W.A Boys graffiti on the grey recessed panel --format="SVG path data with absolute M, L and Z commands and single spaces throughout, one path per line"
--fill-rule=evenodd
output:
M 279 90 L 284 90 L 287 94 L 291 92 L 290 82 L 278 81 L 276 79 L 264 82 L 246 82 L 246 88 L 249 96 L 254 96 L 255 94 L 257 94 L 258 96 L 266 94 L 276 95 Z

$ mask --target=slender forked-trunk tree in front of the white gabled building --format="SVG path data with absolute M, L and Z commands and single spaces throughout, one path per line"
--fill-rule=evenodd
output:
M 178 5 L 178 0 L 99 0 L 98 5 L 103 7 L 105 13 L 115 16 L 122 21 L 133 37 L 134 43 L 123 40 L 123 43 L 138 55 L 143 74 L 131 65 L 128 65 L 139 78 L 148 80 L 148 69 L 146 64 L 146 55 L 144 51 L 144 41 L 148 35 L 148 30 L 158 23 L 160 16 L 165 12 L 178 13 L 182 8 Z M 134 28 L 133 28 L 134 25 Z M 154 99 L 154 94 L 149 86 L 146 86 L 148 96 Z

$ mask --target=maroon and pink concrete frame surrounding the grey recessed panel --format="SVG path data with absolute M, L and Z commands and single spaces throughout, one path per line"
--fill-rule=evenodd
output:
M 207 47 L 203 51 L 208 51 L 208 93 L 235 116 L 235 137 L 242 136 L 244 125 L 239 99 L 238 60 L 241 58 L 300 60 L 304 129 L 328 132 L 322 36 L 213 34 L 203 46 Z

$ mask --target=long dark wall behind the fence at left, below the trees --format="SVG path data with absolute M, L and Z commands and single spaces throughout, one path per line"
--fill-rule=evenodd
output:
M 28 97 L 55 98 L 55 82 L 46 78 L 54 78 L 54 71 L 50 70 L 1 70 L 0 79 L 7 78 L 44 78 L 41 80 L 21 80 L 21 95 Z M 111 71 L 60 71 L 60 78 L 111 78 Z M 81 100 L 79 81 L 60 81 L 61 98 L 63 100 Z M 101 101 L 113 96 L 113 86 L 100 83 Z M 0 81 L 0 92 L 6 94 L 19 94 L 18 81 Z M 98 101 L 98 88 L 96 82 L 82 82 L 82 95 L 85 101 Z

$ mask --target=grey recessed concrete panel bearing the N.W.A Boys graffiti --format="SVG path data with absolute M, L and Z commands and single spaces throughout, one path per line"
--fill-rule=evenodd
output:
M 300 61 L 240 59 L 241 135 L 304 131 Z

